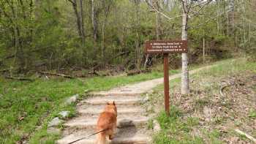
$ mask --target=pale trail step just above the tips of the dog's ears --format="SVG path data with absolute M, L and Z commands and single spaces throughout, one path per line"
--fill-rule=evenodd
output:
M 142 100 L 140 96 L 97 96 L 81 102 L 90 105 L 105 105 L 107 102 L 115 101 L 116 105 L 136 105 Z

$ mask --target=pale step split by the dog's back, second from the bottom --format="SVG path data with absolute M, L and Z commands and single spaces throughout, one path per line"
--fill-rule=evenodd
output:
M 73 118 L 70 121 L 67 121 L 67 123 L 63 124 L 67 127 L 75 127 L 78 129 L 94 129 L 97 124 L 97 117 L 94 118 L 88 118 L 86 116 L 80 116 L 78 118 Z M 133 116 L 133 117 L 124 117 L 124 115 L 121 116 L 121 118 L 118 116 L 117 126 L 118 127 L 126 127 L 126 126 L 141 126 L 146 125 L 149 118 L 146 116 Z

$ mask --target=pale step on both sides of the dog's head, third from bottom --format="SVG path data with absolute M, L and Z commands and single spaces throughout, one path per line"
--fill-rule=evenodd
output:
M 78 113 L 81 115 L 99 115 L 104 110 L 105 105 L 81 105 L 78 107 Z M 142 107 L 139 106 L 130 106 L 127 105 L 117 105 L 118 115 L 129 115 L 129 114 L 138 114 L 146 113 Z

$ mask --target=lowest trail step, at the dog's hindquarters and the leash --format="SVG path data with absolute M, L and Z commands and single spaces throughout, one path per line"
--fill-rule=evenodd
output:
M 91 133 L 94 133 L 94 131 L 74 132 L 72 134 L 67 135 L 66 137 L 63 137 L 61 140 L 58 140 L 57 143 L 58 144 L 71 143 L 72 141 L 78 140 L 82 137 L 86 137 Z M 108 138 L 107 140 L 111 144 L 146 144 L 146 143 L 150 143 L 151 141 L 151 138 L 148 135 L 149 134 L 146 134 L 146 129 L 137 129 L 135 126 L 130 126 L 124 129 L 117 129 L 117 132 L 113 140 L 108 140 Z M 80 140 L 75 144 L 94 144 L 95 140 L 96 140 L 96 135 L 87 137 L 86 139 Z

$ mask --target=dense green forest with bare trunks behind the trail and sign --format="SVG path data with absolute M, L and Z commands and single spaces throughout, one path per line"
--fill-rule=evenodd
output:
M 254 0 L 192 2 L 189 64 L 254 59 Z M 178 0 L 1 0 L 0 71 L 82 70 L 83 76 L 101 69 L 146 69 L 162 56 L 147 56 L 145 41 L 181 39 L 181 14 Z M 170 66 L 181 67 L 181 56 L 170 55 Z

